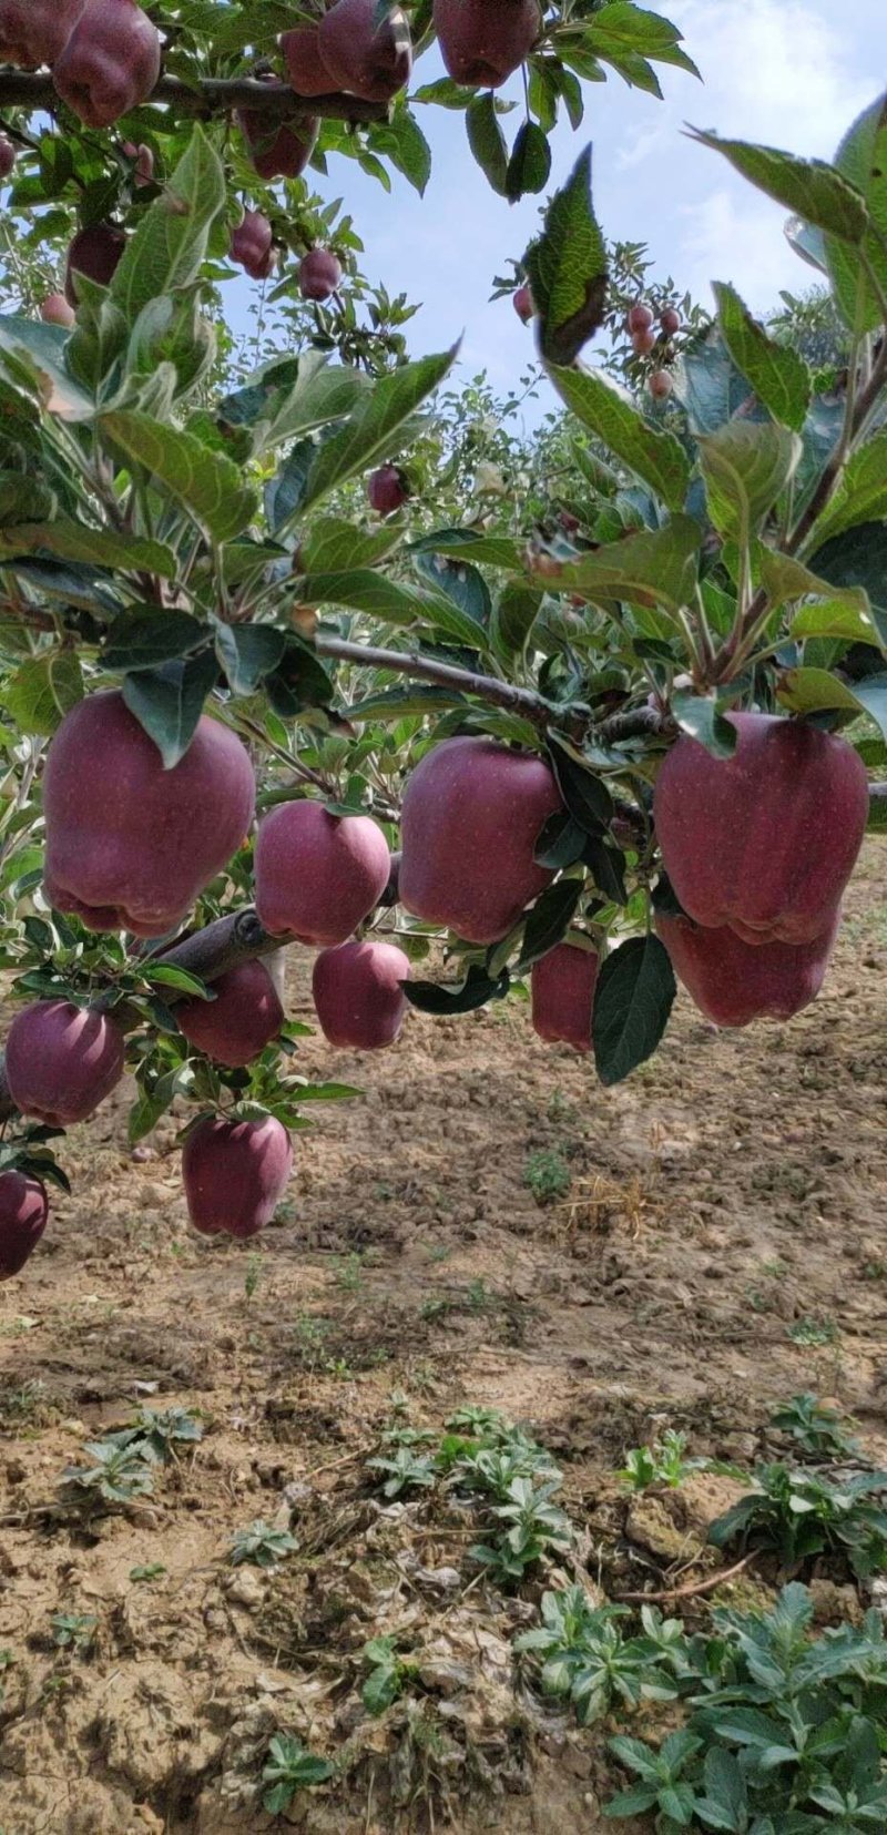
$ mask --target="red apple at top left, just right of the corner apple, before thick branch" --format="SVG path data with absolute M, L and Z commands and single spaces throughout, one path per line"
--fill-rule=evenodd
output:
M 86 0 L 53 62 L 53 84 L 86 127 L 112 127 L 160 77 L 160 33 L 136 0 Z

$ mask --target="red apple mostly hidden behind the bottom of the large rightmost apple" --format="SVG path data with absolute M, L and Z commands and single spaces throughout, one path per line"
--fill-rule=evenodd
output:
M 716 1026 L 747 1026 L 790 1020 L 815 1000 L 839 921 L 841 912 L 832 912 L 812 943 L 744 943 L 725 927 L 705 930 L 665 912 L 657 912 L 656 929 L 700 1013 Z

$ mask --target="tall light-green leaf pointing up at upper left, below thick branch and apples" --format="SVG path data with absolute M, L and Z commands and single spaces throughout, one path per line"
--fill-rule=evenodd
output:
M 134 325 L 152 299 L 191 286 L 204 266 L 209 231 L 224 215 L 228 187 L 222 161 L 202 127 L 174 172 L 163 182 L 110 283 L 110 297 Z

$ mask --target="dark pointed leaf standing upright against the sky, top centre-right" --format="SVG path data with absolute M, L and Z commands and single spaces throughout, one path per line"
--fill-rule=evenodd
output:
M 604 317 L 606 244 L 591 204 L 591 147 L 555 193 L 523 257 L 545 363 L 567 365 Z M 556 378 L 555 378 L 556 382 Z

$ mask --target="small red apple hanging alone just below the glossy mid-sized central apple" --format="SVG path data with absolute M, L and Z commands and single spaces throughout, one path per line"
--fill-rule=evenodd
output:
M 408 1009 L 408 980 L 410 958 L 395 943 L 367 938 L 321 949 L 312 993 L 323 1037 L 351 1051 L 380 1051 L 393 1044 Z

